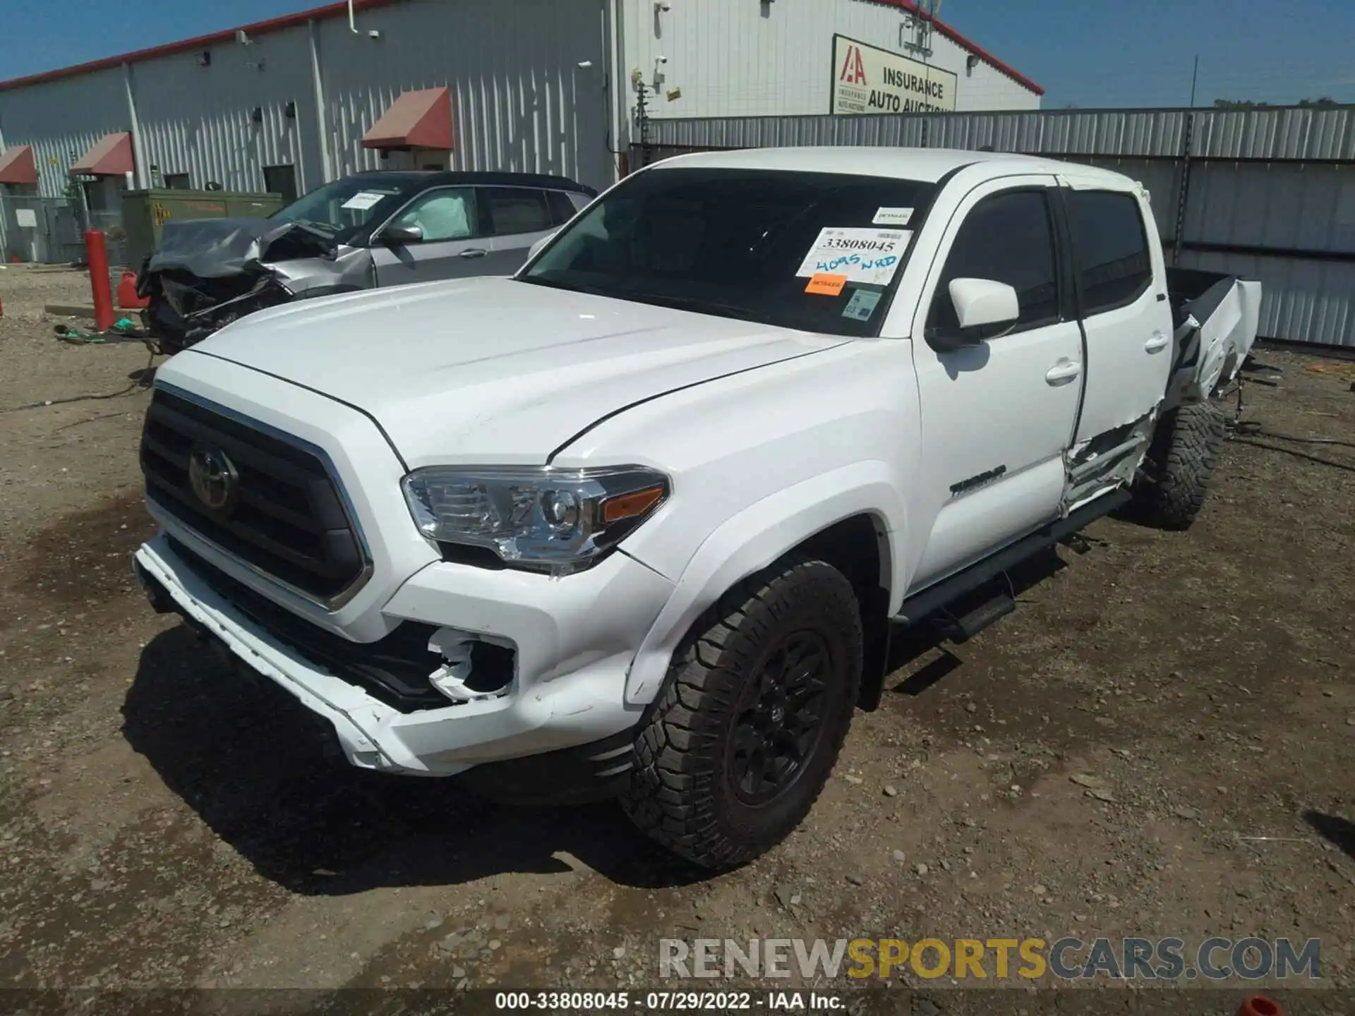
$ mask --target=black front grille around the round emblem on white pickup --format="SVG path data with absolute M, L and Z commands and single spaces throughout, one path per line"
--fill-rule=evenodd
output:
M 225 512 L 194 493 L 195 446 L 225 452 L 238 475 Z M 141 435 L 146 497 L 222 550 L 301 592 L 329 599 L 362 574 L 363 557 L 324 463 L 248 424 L 157 390 Z

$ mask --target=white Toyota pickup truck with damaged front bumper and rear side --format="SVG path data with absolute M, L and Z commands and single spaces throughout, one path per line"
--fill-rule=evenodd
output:
M 892 627 L 972 635 L 1112 509 L 1191 523 L 1259 299 L 1168 270 L 1103 169 L 683 156 L 511 279 L 280 306 L 167 362 L 136 570 L 354 765 L 619 797 L 730 867 L 809 811 Z

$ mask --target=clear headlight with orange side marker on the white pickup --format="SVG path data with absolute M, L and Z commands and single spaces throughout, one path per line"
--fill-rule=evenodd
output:
M 592 564 L 669 490 L 668 477 L 640 466 L 431 466 L 401 486 L 428 539 L 489 547 L 505 562 L 554 573 Z

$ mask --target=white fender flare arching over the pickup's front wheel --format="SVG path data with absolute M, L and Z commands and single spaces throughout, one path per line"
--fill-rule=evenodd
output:
M 871 515 L 883 530 L 881 583 L 898 599 L 905 507 L 893 467 L 858 462 L 778 490 L 728 519 L 696 547 L 641 642 L 626 676 L 627 704 L 648 704 L 663 687 L 678 643 L 730 587 L 767 568 L 829 526 Z

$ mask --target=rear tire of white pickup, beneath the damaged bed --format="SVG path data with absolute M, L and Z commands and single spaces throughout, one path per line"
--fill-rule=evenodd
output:
M 1163 415 L 1134 488 L 1133 513 L 1148 526 L 1186 530 L 1205 504 L 1228 420 L 1213 402 L 1192 402 Z

